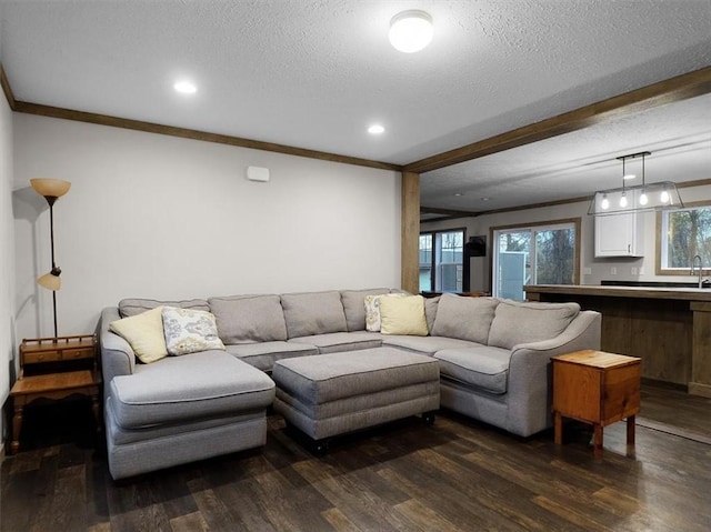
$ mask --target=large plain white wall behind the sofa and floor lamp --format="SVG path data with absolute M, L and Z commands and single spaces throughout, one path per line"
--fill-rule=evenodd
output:
M 93 332 L 129 297 L 400 285 L 397 172 L 16 113 L 14 175 L 20 338 L 52 334 L 33 177 L 72 183 L 54 205 L 60 334 Z

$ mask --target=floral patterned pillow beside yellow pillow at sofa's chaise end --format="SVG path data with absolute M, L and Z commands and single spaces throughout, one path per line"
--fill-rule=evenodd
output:
M 188 354 L 209 349 L 224 350 L 212 313 L 204 310 L 163 307 L 163 333 L 168 354 Z

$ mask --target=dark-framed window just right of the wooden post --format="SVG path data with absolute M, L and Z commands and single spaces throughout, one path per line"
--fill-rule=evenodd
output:
M 461 292 L 464 230 L 420 234 L 420 292 Z

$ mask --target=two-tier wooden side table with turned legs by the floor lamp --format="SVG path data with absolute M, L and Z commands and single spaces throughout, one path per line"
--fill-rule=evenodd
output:
M 101 374 L 97 368 L 93 334 L 22 340 L 20 378 L 12 387 L 10 454 L 20 448 L 24 406 L 36 399 L 60 400 L 73 394 L 91 399 L 97 431 L 101 431 Z M 86 367 L 82 369 L 81 367 Z

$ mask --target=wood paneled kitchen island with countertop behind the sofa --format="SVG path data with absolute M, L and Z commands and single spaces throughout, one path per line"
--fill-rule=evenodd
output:
M 642 359 L 642 378 L 711 398 L 711 289 L 531 284 L 529 301 L 602 313 L 601 350 Z

